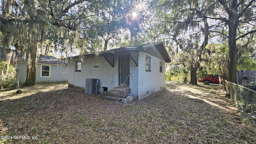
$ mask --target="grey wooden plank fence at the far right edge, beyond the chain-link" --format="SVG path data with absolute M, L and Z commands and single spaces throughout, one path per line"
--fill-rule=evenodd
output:
M 240 85 L 256 82 L 256 70 L 238 70 L 238 82 Z

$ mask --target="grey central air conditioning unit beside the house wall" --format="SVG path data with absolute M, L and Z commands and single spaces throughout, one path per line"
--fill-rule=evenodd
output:
M 97 94 L 98 85 L 99 85 L 99 79 L 86 78 L 84 93 Z

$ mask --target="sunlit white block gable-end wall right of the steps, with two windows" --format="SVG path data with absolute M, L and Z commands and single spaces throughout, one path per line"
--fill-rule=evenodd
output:
M 146 72 L 146 56 L 151 57 L 151 72 Z M 160 61 L 163 62 L 163 72 L 160 72 Z M 160 58 L 156 58 L 146 52 L 139 52 L 139 67 L 138 67 L 138 96 L 137 99 L 142 99 L 150 94 L 164 89 L 165 86 L 165 62 Z

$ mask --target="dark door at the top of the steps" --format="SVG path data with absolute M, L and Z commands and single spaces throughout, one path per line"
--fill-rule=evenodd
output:
M 130 74 L 130 55 L 121 55 L 119 63 L 120 63 L 120 66 L 119 66 L 120 85 L 129 86 L 130 85 L 130 75 L 129 75 Z

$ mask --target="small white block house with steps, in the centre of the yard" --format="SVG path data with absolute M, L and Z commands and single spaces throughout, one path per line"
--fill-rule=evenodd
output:
M 142 99 L 164 89 L 165 62 L 170 57 L 162 42 L 107 50 L 98 56 L 87 54 L 82 61 L 76 56 L 69 65 L 68 84 L 85 88 L 86 79 L 95 78 L 99 79 L 98 92 L 124 85 L 129 90 L 123 98 Z

